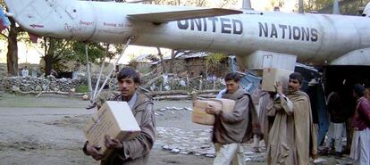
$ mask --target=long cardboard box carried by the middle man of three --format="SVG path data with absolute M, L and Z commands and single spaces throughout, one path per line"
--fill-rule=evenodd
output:
M 206 107 L 212 105 L 216 110 L 230 112 L 234 109 L 235 101 L 230 99 L 197 100 L 193 105 L 191 120 L 198 124 L 213 126 L 214 115 L 206 113 Z

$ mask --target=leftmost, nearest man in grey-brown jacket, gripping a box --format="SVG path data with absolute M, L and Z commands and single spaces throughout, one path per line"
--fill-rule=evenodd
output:
M 153 111 L 153 102 L 147 95 L 139 94 L 139 73 L 130 68 L 123 68 L 117 74 L 118 86 L 121 95 L 114 101 L 127 102 L 138 121 L 141 133 L 130 141 L 119 141 L 105 136 L 105 146 L 114 152 L 103 156 L 98 152 L 98 146 L 88 144 L 84 146 L 84 153 L 91 155 L 95 160 L 101 160 L 102 165 L 146 165 L 149 152 L 156 140 L 156 120 Z

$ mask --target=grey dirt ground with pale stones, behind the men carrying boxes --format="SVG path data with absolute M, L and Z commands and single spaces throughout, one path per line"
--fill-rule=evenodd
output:
M 0 97 L 0 165 L 98 164 L 81 151 L 86 140 L 82 128 L 94 113 L 85 109 L 87 105 L 87 101 L 77 98 L 53 95 Z M 213 150 L 208 136 L 210 127 L 192 123 L 191 111 L 176 110 L 179 107 L 191 107 L 191 102 L 155 102 L 159 134 L 150 153 L 150 164 L 212 164 L 212 154 L 206 154 Z M 189 152 L 173 153 L 164 146 L 177 146 Z M 195 152 L 202 149 L 204 154 Z M 251 160 L 259 161 L 247 164 L 265 164 L 264 154 L 251 155 Z M 322 164 L 342 163 L 332 159 Z

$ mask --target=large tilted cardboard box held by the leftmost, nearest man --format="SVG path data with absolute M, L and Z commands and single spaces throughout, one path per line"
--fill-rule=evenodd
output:
M 105 135 L 126 141 L 138 136 L 141 130 L 129 104 L 107 101 L 88 121 L 83 131 L 88 139 L 88 144 L 100 146 L 99 151 L 107 155 L 110 151 L 105 148 Z

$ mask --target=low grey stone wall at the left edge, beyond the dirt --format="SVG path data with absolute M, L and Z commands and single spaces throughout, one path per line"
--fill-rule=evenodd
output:
M 80 79 L 47 78 L 32 77 L 4 77 L 3 86 L 5 91 L 10 92 L 41 92 L 41 91 L 59 91 L 71 92 L 72 88 L 80 85 Z

